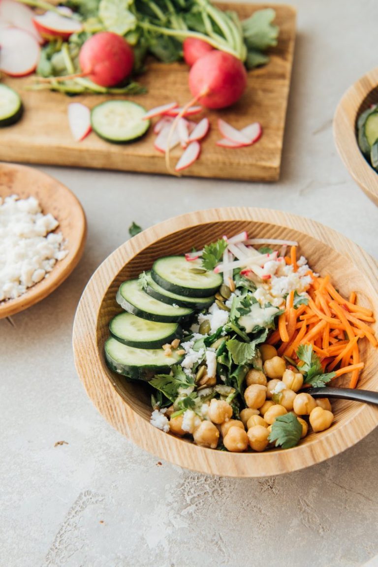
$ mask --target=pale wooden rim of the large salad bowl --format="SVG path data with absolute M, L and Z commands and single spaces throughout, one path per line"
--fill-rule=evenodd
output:
M 173 221 L 175 226 L 179 227 L 176 230 L 172 230 Z M 96 337 L 97 318 L 114 277 L 125 264 L 156 240 L 193 225 L 219 221 L 264 222 L 299 232 L 305 229 L 302 230 L 303 234 L 332 247 L 341 255 L 345 255 L 343 245 L 347 244 L 354 252 L 353 263 L 358 265 L 360 257 L 373 263 L 374 274 L 378 280 L 377 265 L 362 248 L 338 232 L 310 219 L 281 211 L 254 208 L 209 209 L 183 214 L 152 226 L 121 244 L 97 268 L 83 292 L 74 320 L 73 349 L 77 373 L 96 408 L 115 429 L 145 450 L 181 467 L 217 476 L 265 477 L 293 472 L 320 463 L 346 450 L 370 433 L 378 424 L 378 408 L 368 404 L 360 404 L 359 407 L 356 405 L 356 411 L 343 427 L 342 434 L 339 430 L 333 431 L 331 428 L 322 433 L 321 438 L 315 438 L 306 445 L 288 450 L 258 454 L 212 451 L 154 428 L 126 403 L 102 371 Z M 328 238 L 325 237 L 324 232 L 327 233 Z M 334 247 L 333 242 L 337 239 L 340 244 Z M 349 255 L 347 257 L 352 261 Z M 372 277 L 372 274 L 367 274 L 364 270 L 362 262 L 359 269 L 363 270 L 364 276 Z M 84 358 L 82 358 L 83 352 Z M 362 416 L 364 416 L 363 420 Z M 346 434 L 346 429 L 350 430 L 350 428 L 353 428 L 352 439 Z

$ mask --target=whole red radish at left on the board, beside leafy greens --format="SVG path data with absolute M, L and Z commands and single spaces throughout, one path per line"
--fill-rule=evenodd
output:
M 129 77 L 134 53 L 123 37 L 99 32 L 83 44 L 79 53 L 82 75 L 103 87 L 112 87 Z

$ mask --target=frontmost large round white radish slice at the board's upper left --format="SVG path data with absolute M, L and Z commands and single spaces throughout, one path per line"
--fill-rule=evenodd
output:
M 0 69 L 4 73 L 12 77 L 33 73 L 38 65 L 41 49 L 30 33 L 17 28 L 2 29 L 0 45 Z

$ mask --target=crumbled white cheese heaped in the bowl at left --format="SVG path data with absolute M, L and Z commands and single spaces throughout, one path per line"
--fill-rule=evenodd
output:
M 35 197 L 0 197 L 0 301 L 25 293 L 67 255 L 62 234 L 52 232 L 58 224 Z

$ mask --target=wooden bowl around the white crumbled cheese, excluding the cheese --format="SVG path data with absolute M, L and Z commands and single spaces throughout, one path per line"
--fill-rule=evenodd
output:
M 12 194 L 37 198 L 43 213 L 51 213 L 59 221 L 56 231 L 67 240 L 69 253 L 56 263 L 48 277 L 26 293 L 0 302 L 0 319 L 31 307 L 60 286 L 78 264 L 87 234 L 86 217 L 78 199 L 53 177 L 32 167 L 0 163 L 0 197 Z

